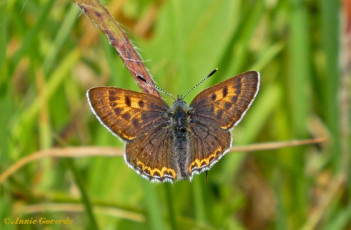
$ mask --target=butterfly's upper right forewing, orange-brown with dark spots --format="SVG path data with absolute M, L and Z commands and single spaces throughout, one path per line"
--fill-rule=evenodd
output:
M 193 119 L 230 129 L 245 115 L 259 88 L 259 73 L 250 71 L 214 85 L 191 102 Z

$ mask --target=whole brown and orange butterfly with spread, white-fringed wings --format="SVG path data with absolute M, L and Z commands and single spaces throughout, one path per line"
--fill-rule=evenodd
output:
M 242 73 L 202 91 L 189 106 L 184 97 L 170 107 L 157 96 L 114 87 L 92 88 L 87 97 L 97 119 L 126 142 L 130 168 L 153 182 L 173 182 L 209 170 L 229 150 L 230 129 L 259 84 L 258 72 Z

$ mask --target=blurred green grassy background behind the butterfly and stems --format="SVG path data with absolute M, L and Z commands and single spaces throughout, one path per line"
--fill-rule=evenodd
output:
M 122 157 L 38 160 L 0 185 L 0 229 L 351 228 L 344 180 L 350 107 L 340 104 L 350 92 L 340 71 L 341 51 L 351 50 L 341 43 L 341 2 L 103 4 L 139 48 L 157 86 L 171 94 L 184 94 L 219 68 L 187 102 L 214 83 L 260 71 L 261 89 L 233 130 L 234 145 L 326 136 L 330 141 L 228 153 L 208 181 L 201 174 L 173 185 L 149 183 Z M 38 150 L 123 148 L 91 113 L 85 92 L 102 85 L 140 89 L 76 4 L 3 0 L 0 30 L 0 173 Z M 74 222 L 6 225 L 7 217 Z

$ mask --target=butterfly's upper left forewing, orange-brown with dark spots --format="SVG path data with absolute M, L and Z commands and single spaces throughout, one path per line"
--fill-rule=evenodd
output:
M 99 121 L 113 134 L 130 141 L 166 122 L 169 106 L 160 98 L 114 87 L 97 87 L 87 92 Z

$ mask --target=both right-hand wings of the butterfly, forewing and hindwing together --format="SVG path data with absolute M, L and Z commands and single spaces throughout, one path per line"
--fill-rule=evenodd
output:
M 250 71 L 214 85 L 194 98 L 190 104 L 193 120 L 190 174 L 208 170 L 229 149 L 230 128 L 245 115 L 259 83 L 259 73 Z

